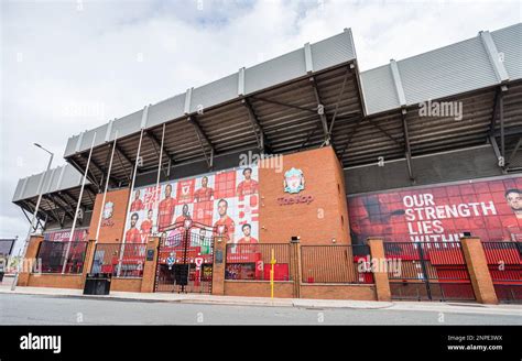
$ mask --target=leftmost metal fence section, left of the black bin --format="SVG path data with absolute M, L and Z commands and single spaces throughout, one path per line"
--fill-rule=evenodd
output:
M 43 241 L 36 258 L 42 262 L 43 273 L 78 274 L 84 270 L 86 250 L 87 242 Z

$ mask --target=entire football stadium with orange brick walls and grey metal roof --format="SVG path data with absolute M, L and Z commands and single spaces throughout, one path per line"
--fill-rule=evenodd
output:
M 522 24 L 366 72 L 345 29 L 70 136 L 19 286 L 520 300 L 521 145 Z

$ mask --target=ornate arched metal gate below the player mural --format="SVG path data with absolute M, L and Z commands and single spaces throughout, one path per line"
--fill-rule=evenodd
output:
M 157 252 L 154 291 L 211 293 L 213 229 L 187 219 L 164 231 Z

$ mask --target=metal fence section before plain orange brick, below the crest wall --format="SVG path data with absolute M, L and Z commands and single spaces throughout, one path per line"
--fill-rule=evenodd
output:
M 366 244 L 302 245 L 301 264 L 303 283 L 373 283 Z

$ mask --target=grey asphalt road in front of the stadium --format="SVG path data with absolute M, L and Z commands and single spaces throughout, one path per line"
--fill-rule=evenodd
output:
M 0 325 L 522 325 L 521 315 L 309 309 L 0 294 Z

